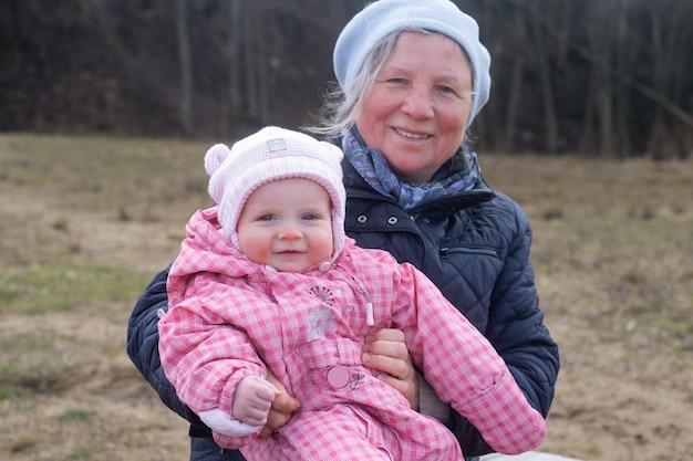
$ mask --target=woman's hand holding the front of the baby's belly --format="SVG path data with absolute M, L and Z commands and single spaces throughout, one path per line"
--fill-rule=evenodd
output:
M 410 356 L 404 333 L 383 328 L 365 337 L 361 362 L 364 366 L 383 371 L 377 377 L 402 394 L 414 411 L 418 411 L 418 375 Z

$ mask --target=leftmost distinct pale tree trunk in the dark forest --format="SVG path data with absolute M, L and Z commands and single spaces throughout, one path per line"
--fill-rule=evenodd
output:
M 193 63 L 186 0 L 176 0 L 176 32 L 180 62 L 179 121 L 186 135 L 193 133 Z

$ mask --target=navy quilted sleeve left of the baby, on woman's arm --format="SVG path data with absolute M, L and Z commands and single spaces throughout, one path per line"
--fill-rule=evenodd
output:
M 162 368 L 158 354 L 157 311 L 168 310 L 166 277 L 169 269 L 170 266 L 156 274 L 135 304 L 127 325 L 127 355 L 162 401 L 193 425 L 192 432 L 196 429 L 208 431 L 197 415 L 180 402 Z

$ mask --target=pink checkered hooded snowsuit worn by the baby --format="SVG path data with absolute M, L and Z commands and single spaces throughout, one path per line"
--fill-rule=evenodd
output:
M 180 399 L 232 417 L 236 385 L 269 367 L 301 402 L 269 438 L 215 432 L 221 447 L 248 460 L 463 460 L 444 425 L 361 365 L 364 336 L 385 327 L 404 332 L 438 397 L 495 450 L 516 454 L 544 439 L 544 418 L 493 346 L 411 264 L 348 239 L 327 272 L 277 272 L 224 238 L 216 208 L 194 214 L 186 231 L 158 324 L 162 365 Z

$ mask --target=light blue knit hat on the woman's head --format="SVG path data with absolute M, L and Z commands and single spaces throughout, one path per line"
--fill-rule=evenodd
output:
M 474 74 L 474 103 L 467 126 L 488 101 L 490 55 L 479 42 L 479 28 L 451 0 L 379 0 L 352 18 L 334 45 L 334 74 L 345 95 L 368 55 L 392 32 L 415 28 L 447 35 L 465 50 Z

